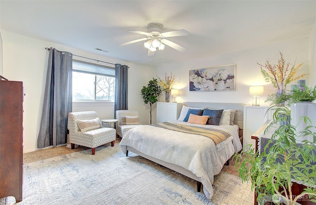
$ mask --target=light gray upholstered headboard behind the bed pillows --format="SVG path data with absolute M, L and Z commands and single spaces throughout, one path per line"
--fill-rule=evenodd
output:
M 183 102 L 183 105 L 188 107 L 195 107 L 195 108 L 208 108 L 208 109 L 235 109 L 235 120 L 234 124 L 239 126 L 239 129 L 243 130 L 243 106 L 245 104 L 242 103 L 211 103 L 211 102 Z M 242 136 L 242 133 L 239 133 Z

